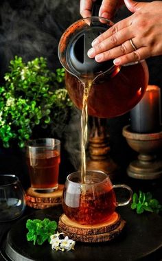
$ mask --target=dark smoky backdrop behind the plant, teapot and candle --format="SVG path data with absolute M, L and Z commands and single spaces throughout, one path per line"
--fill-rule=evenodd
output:
M 1 0 L 0 1 L 0 83 L 8 70 L 10 60 L 15 55 L 24 61 L 43 56 L 47 58 L 49 68 L 54 70 L 61 67 L 58 60 L 58 42 L 62 33 L 71 23 L 81 18 L 79 0 Z M 126 8 L 121 8 L 115 21 L 130 15 Z M 147 60 L 150 72 L 149 84 L 162 87 L 162 58 L 155 57 Z M 78 125 L 80 116 L 75 114 L 64 133 L 65 158 L 69 163 L 62 167 L 62 180 L 78 164 Z M 111 141 L 111 157 L 126 171 L 130 160 L 136 157 L 122 136 L 122 128 L 129 124 L 129 113 L 108 120 L 108 130 Z M 14 172 L 23 185 L 27 186 L 27 173 L 22 167 L 24 158 L 16 155 L 16 151 L 1 148 L 0 171 Z M 7 163 L 6 163 L 7 161 Z M 65 161 L 66 162 L 66 161 Z

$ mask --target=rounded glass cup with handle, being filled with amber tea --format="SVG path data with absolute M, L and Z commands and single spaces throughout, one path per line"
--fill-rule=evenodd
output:
M 128 200 L 118 203 L 114 188 L 128 190 Z M 111 220 L 117 206 L 127 205 L 132 199 L 132 190 L 124 184 L 113 185 L 102 171 L 86 170 L 82 183 L 81 172 L 67 177 L 63 192 L 62 207 L 65 215 L 81 225 L 95 225 Z

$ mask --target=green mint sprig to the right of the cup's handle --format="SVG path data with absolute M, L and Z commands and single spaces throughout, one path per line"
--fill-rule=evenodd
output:
M 139 195 L 134 193 L 132 196 L 131 209 L 136 209 L 137 214 L 144 211 L 159 213 L 162 210 L 162 205 L 156 198 L 152 198 L 150 192 L 144 193 L 139 190 Z

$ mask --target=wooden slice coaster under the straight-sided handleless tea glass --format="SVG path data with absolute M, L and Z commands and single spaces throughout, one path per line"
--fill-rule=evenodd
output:
M 64 185 L 58 185 L 58 189 L 54 192 L 39 192 L 33 188 L 26 191 L 26 204 L 36 209 L 44 209 L 53 207 L 62 203 L 62 192 Z

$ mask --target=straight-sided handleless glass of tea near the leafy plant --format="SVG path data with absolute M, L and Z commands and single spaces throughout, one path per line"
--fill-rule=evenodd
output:
M 60 164 L 60 140 L 33 139 L 27 144 L 27 166 L 34 190 L 57 190 Z

